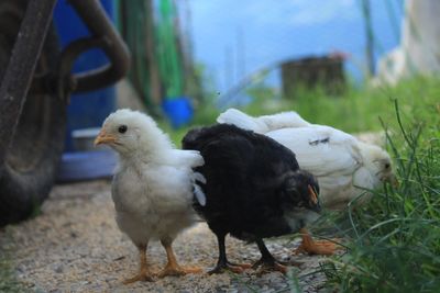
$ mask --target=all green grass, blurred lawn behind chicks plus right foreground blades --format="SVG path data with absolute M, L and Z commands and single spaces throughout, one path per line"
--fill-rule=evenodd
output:
M 322 266 L 336 292 L 440 290 L 440 80 L 415 78 L 395 88 L 351 89 L 340 97 L 304 91 L 296 100 L 251 89 L 254 115 L 296 110 L 306 120 L 349 133 L 386 131 L 400 185 L 376 191 L 370 204 L 332 222 L 349 250 Z M 199 109 L 195 124 L 219 111 Z M 173 133 L 176 144 L 187 128 Z

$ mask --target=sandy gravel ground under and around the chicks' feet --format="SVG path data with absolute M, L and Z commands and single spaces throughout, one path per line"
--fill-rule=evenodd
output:
M 285 275 L 273 272 L 257 277 L 252 270 L 241 275 L 200 273 L 123 285 L 122 280 L 138 271 L 138 251 L 118 229 L 113 214 L 109 181 L 57 185 L 41 215 L 0 232 L 0 248 L 13 251 L 11 262 L 19 281 L 34 292 L 289 291 L 290 281 Z M 266 244 L 278 259 L 301 263 L 294 270 L 304 292 L 318 292 L 324 277 L 309 273 L 319 269 L 323 258 L 290 257 L 298 241 L 268 239 Z M 227 245 L 231 261 L 253 262 L 260 257 L 254 245 L 233 238 L 228 238 Z M 205 223 L 182 234 L 174 248 L 182 264 L 207 271 L 217 261 L 217 241 Z M 163 268 L 166 257 L 158 243 L 152 243 L 147 253 L 154 271 Z

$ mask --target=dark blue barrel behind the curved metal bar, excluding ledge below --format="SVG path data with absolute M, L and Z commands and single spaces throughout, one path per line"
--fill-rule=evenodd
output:
M 113 0 L 100 1 L 111 20 L 116 13 Z M 67 0 L 59 0 L 55 7 L 54 21 L 58 32 L 62 47 L 72 41 L 89 36 L 87 26 L 82 23 Z M 91 49 L 78 57 L 74 66 L 74 72 L 87 71 L 99 68 L 109 60 L 101 49 Z M 116 109 L 116 89 L 106 88 L 87 93 L 76 93 L 70 97 L 67 113 L 66 151 L 74 150 L 72 132 L 75 129 L 99 127 L 102 121 Z

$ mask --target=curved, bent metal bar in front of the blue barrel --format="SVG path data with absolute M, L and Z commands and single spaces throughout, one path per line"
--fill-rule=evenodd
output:
M 98 0 L 70 0 L 69 2 L 89 29 L 91 38 L 99 40 L 99 47 L 105 50 L 110 59 L 110 65 L 74 75 L 76 80 L 75 92 L 96 90 L 114 83 L 129 71 L 130 53 L 125 43 L 114 30 Z M 77 52 L 74 50 L 74 54 L 77 54 Z M 64 54 L 64 56 L 66 55 Z M 69 56 L 66 57 L 68 63 L 72 63 L 73 59 Z M 72 65 L 67 67 L 70 69 Z M 63 66 L 63 68 L 66 68 L 66 66 Z

